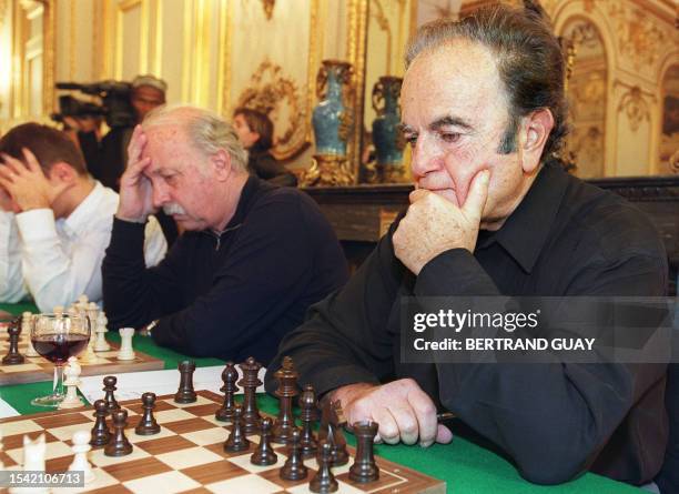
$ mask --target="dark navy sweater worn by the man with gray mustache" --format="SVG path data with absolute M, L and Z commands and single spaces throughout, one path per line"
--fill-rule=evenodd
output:
M 115 220 L 103 261 L 112 327 L 160 319 L 153 339 L 195 356 L 267 364 L 308 305 L 344 285 L 342 248 L 303 192 L 251 177 L 224 232 L 186 232 L 145 269 L 144 225 Z

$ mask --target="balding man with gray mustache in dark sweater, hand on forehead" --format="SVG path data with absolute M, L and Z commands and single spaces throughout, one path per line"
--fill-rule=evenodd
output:
M 184 354 L 268 363 L 308 305 L 346 282 L 344 254 L 314 201 L 250 177 L 221 117 L 156 109 L 128 152 L 102 266 L 113 327 L 150 325 L 158 344 Z M 144 269 L 143 225 L 159 209 L 184 233 Z

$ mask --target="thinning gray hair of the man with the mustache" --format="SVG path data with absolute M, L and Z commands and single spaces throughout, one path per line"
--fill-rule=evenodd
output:
M 213 111 L 189 104 L 163 105 L 146 114 L 142 128 L 149 130 L 176 124 L 180 119 L 195 149 L 206 155 L 223 149 L 231 157 L 231 164 L 235 171 L 247 170 L 247 153 L 233 125 Z

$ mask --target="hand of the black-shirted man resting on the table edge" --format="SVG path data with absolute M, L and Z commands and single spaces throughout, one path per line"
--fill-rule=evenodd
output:
M 436 406 L 412 379 L 375 386 L 349 384 L 331 393 L 332 401 L 340 400 L 348 424 L 373 421 L 379 424 L 377 440 L 395 444 L 430 446 L 449 443 L 453 434 L 436 420 Z

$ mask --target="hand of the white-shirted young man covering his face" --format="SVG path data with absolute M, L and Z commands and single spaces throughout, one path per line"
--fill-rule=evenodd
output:
M 23 148 L 26 164 L 2 154 L 0 159 L 0 186 L 13 199 L 21 211 L 50 208 L 54 200 L 69 188 L 68 183 L 50 183 L 31 151 Z

